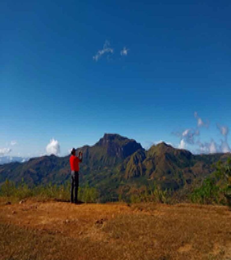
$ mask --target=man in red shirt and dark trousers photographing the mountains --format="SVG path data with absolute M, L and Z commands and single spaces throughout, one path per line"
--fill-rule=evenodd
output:
M 83 153 L 79 152 L 79 157 L 75 156 L 75 148 L 71 151 L 70 166 L 71 166 L 71 203 L 78 203 L 78 189 L 79 189 L 79 162 L 82 162 Z M 75 189 L 74 189 L 75 188 Z M 73 196 L 73 190 L 75 196 Z

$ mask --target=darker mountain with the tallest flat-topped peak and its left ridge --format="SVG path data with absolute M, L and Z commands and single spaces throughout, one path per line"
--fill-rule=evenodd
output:
M 97 175 L 97 180 L 104 178 L 114 166 L 138 149 L 143 148 L 135 140 L 117 134 L 105 134 L 95 145 L 77 150 L 77 153 L 83 151 L 81 178 L 90 183 L 94 182 L 94 175 Z M 60 184 L 69 178 L 69 168 L 69 156 L 54 155 L 32 158 L 26 163 L 4 164 L 0 166 L 0 183 L 6 178 L 16 183 L 23 178 L 29 184 Z

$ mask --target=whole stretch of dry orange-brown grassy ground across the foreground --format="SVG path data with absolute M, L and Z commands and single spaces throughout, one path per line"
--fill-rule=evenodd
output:
M 0 259 L 231 259 L 231 212 L 195 204 L 0 202 Z

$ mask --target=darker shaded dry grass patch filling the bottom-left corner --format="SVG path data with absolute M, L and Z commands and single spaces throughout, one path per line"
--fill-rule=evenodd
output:
M 70 238 L 2 223 L 0 234 L 1 260 L 119 259 L 112 248 L 87 238 Z

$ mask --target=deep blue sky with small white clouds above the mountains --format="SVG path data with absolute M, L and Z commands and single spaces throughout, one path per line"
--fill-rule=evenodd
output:
M 230 150 L 230 13 L 230 1 L 2 1 L 0 155 L 38 156 L 52 138 L 64 155 L 105 132 Z

